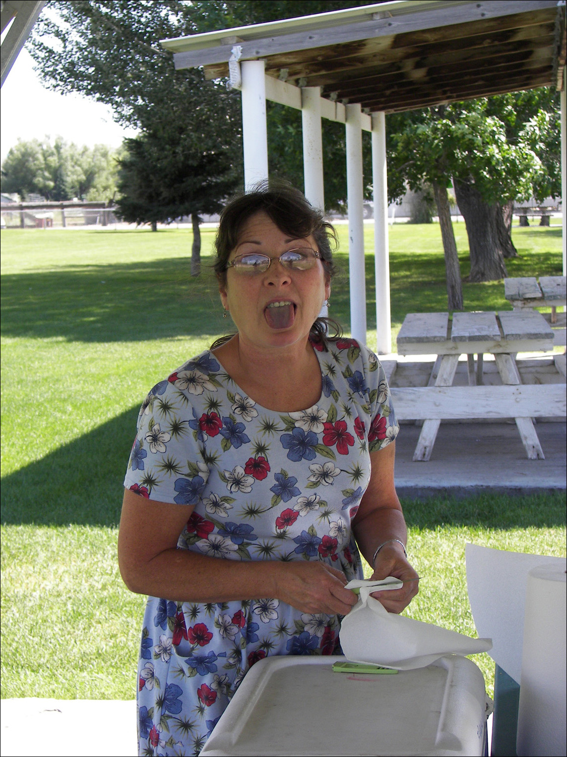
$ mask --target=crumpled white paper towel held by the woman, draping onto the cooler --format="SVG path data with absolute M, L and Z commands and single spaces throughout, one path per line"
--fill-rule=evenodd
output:
M 352 583 L 346 584 L 346 588 L 352 588 Z M 491 648 L 490 639 L 472 639 L 388 612 L 378 600 L 370 597 L 371 591 L 376 588 L 361 587 L 358 602 L 341 623 L 342 651 L 352 662 L 413 670 L 430 665 L 444 655 L 472 655 Z

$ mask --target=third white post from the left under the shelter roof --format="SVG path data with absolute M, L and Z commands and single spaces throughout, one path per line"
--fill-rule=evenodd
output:
M 346 193 L 349 203 L 349 276 L 351 334 L 366 343 L 366 281 L 364 276 L 364 185 L 359 103 L 346 106 Z

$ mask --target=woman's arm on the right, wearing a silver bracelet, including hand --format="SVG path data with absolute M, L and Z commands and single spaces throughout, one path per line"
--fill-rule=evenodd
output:
M 407 528 L 395 493 L 394 456 L 395 442 L 370 453 L 370 482 L 352 521 L 352 531 L 358 548 L 370 565 L 376 549 L 380 544 L 384 545 L 372 565 L 372 578 L 380 580 L 394 575 L 407 581 L 401 589 L 372 594 L 389 612 L 401 612 L 417 594 L 419 581 L 409 580 L 417 578 L 417 573 L 407 562 L 402 546 L 406 544 Z

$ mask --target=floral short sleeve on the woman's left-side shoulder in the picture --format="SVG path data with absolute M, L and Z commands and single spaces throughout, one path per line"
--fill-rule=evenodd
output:
M 125 488 L 159 502 L 196 505 L 209 478 L 198 419 L 172 382 L 154 386 L 138 416 Z

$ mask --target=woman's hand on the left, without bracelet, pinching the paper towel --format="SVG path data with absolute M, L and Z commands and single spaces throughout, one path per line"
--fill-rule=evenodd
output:
M 344 573 L 325 562 L 293 560 L 273 562 L 276 572 L 274 596 L 282 602 L 311 615 L 347 615 L 358 597 L 345 589 Z

